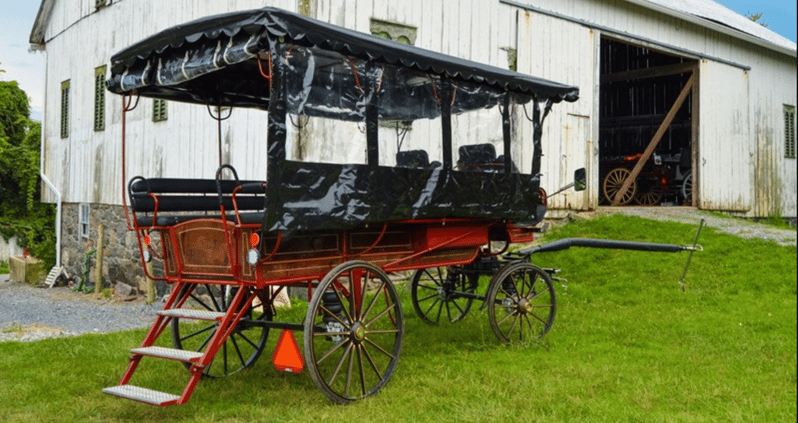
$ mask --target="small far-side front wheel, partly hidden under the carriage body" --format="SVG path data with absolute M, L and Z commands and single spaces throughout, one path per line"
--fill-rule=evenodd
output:
M 466 275 L 451 268 L 416 270 L 411 285 L 413 308 L 421 320 L 430 325 L 439 324 L 446 309 L 446 318 L 454 323 L 468 314 L 473 302 L 472 298 L 460 294 L 474 294 L 478 283 L 478 275 Z

